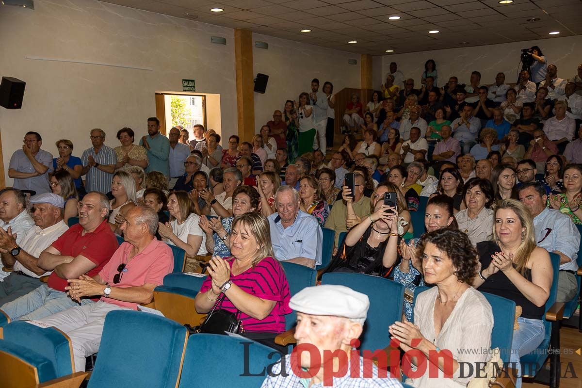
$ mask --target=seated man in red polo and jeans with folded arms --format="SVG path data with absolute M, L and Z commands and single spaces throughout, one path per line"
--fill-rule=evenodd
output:
M 79 304 L 93 302 L 89 298 L 72 300 L 65 287 L 66 279 L 87 274 L 94 276 L 104 267 L 118 248 L 115 234 L 107 222 L 108 198 L 91 191 L 79 202 L 79 223 L 70 227 L 47 249 L 42 251 L 37 265 L 52 273 L 48 283 L 8 302 L 1 307 L 12 321 L 41 319 Z

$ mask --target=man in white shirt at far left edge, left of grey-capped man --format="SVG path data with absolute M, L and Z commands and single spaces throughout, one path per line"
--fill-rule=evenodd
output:
M 34 220 L 26 211 L 26 197 L 16 188 L 5 188 L 0 191 L 0 227 L 16 237 L 16 244 L 22 243 L 24 234 L 34 225 Z M 8 276 L 8 272 L 0 270 L 0 280 Z

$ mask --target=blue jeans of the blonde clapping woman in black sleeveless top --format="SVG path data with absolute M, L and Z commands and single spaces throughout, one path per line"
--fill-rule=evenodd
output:
M 509 362 L 515 363 L 517 368 L 517 380 L 515 388 L 521 388 L 521 356 L 537 349 L 545 337 L 544 322 L 541 319 L 517 318 L 519 329 L 513 331 L 511 355 Z

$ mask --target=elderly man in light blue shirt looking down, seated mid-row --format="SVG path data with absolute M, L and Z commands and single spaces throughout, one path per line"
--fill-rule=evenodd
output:
M 317 219 L 299 209 L 299 193 L 281 186 L 275 193 L 278 213 L 269 216 L 275 258 L 315 268 L 321 264 L 323 231 Z

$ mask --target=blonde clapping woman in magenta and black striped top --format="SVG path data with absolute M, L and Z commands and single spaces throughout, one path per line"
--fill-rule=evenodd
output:
M 209 312 L 224 294 L 221 308 L 240 311 L 244 336 L 279 350 L 274 339 L 285 331 L 290 294 L 285 272 L 274 258 L 269 222 L 257 213 L 238 216 L 229 239 L 232 257 L 211 259 L 196 311 Z

